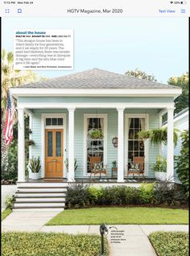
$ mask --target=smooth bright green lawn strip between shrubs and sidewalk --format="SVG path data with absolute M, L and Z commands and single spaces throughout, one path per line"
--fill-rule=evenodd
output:
M 87 208 L 64 210 L 46 225 L 188 224 L 188 210 L 169 208 Z

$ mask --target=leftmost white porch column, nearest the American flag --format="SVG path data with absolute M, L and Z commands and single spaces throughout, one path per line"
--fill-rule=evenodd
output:
M 18 182 L 25 182 L 24 109 L 18 109 Z

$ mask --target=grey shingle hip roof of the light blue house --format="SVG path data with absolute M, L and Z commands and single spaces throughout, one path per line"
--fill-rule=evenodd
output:
M 140 78 L 130 78 L 126 75 L 101 69 L 89 69 L 72 73 L 60 78 L 50 78 L 34 82 L 20 88 L 62 88 L 62 89 L 174 89 L 176 86 L 151 82 Z

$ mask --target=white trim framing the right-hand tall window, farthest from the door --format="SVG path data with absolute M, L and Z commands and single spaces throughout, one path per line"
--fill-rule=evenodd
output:
M 149 114 L 125 114 L 125 167 L 128 163 L 128 138 L 129 138 L 129 118 L 145 118 L 145 129 L 149 129 Z M 148 176 L 148 156 L 149 156 L 149 141 L 144 142 L 144 154 L 145 154 L 145 176 Z M 127 174 L 127 173 L 126 173 Z

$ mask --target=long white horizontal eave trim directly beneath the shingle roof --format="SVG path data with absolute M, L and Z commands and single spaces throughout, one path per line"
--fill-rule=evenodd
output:
M 10 88 L 10 93 L 19 96 L 118 96 L 118 97 L 178 97 L 181 88 L 171 89 L 56 89 L 56 88 Z

